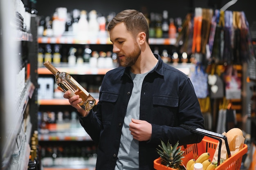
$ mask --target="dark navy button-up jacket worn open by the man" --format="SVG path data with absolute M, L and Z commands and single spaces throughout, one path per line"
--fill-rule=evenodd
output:
M 190 79 L 165 64 L 159 55 L 156 67 L 146 75 L 140 102 L 140 119 L 152 124 L 150 141 L 139 142 L 139 170 L 154 170 L 153 161 L 160 139 L 172 145 L 198 143 L 202 136 L 179 127 L 187 124 L 204 128 L 200 105 Z M 96 170 L 114 170 L 121 128 L 132 93 L 130 68 L 115 68 L 104 76 L 97 104 L 87 117 L 80 117 L 83 128 L 98 144 Z

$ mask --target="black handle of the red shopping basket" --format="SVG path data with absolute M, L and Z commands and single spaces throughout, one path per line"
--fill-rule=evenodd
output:
M 228 141 L 227 141 L 227 137 L 225 135 L 222 135 L 222 134 L 219 134 L 219 133 L 216 133 L 216 132 L 211 132 L 209 130 L 205 130 L 205 129 L 201 129 L 201 128 L 196 128 L 194 126 L 189 126 L 189 125 L 181 124 L 180 126 L 184 129 L 190 130 L 191 132 L 195 132 L 195 133 L 198 133 L 198 134 L 201 134 L 201 135 L 204 135 L 204 136 L 211 137 L 213 139 L 217 139 L 220 142 L 219 150 L 218 150 L 218 166 L 220 165 L 220 151 L 221 151 L 220 147 L 222 146 L 222 140 L 221 139 L 224 139 L 225 146 L 227 148 L 227 155 L 228 155 L 228 157 L 231 157 L 229 144 L 228 144 Z

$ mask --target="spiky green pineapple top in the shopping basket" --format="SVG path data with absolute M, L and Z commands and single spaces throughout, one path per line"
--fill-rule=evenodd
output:
M 181 147 L 178 148 L 179 141 L 172 147 L 169 141 L 167 145 L 161 140 L 161 145 L 159 144 L 157 149 L 157 153 L 160 156 L 161 164 L 166 165 L 167 167 L 174 168 L 177 170 L 184 170 L 184 166 L 181 165 L 182 154 L 184 153 L 181 150 Z

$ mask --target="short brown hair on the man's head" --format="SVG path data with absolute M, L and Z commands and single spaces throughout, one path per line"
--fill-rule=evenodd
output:
M 126 9 L 119 12 L 108 23 L 108 31 L 110 31 L 121 22 L 124 22 L 126 29 L 130 31 L 134 36 L 136 36 L 140 32 L 146 33 L 146 42 L 148 43 L 148 23 L 143 13 L 134 9 Z

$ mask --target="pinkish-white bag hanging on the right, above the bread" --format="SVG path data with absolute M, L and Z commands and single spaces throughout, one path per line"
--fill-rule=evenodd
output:
M 225 76 L 225 96 L 227 99 L 241 98 L 241 78 L 238 77 L 237 69 L 233 65 L 226 68 Z

